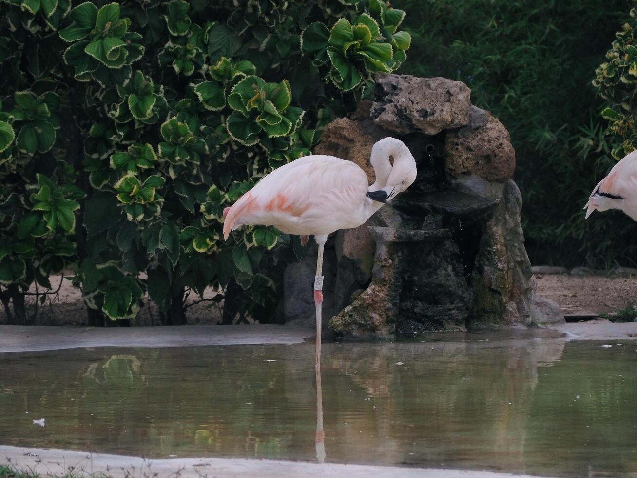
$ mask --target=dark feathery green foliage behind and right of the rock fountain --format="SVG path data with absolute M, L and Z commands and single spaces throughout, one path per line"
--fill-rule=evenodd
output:
M 517 156 L 527 250 L 534 264 L 637 262 L 637 226 L 617 211 L 584 222 L 583 205 L 615 163 L 605 107 L 592 86 L 632 2 L 396 0 L 408 10 L 401 73 L 447 76 L 508 128 Z M 631 86 L 631 89 L 633 87 Z M 633 131 L 634 134 L 634 131 Z M 611 138 L 612 139 L 612 138 Z

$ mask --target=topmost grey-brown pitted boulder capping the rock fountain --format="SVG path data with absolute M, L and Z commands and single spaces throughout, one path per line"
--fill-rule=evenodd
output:
M 379 75 L 370 116 L 377 126 L 398 134 L 438 134 L 466 126 L 471 90 L 447 78 Z

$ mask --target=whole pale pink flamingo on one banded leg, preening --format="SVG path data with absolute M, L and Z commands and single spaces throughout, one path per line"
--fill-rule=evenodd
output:
M 275 226 L 283 233 L 301 235 L 303 243 L 308 236 L 314 236 L 318 244 L 314 280 L 317 349 L 321 338 L 323 247 L 327 236 L 338 229 L 361 226 L 416 179 L 416 162 L 403 141 L 396 138 L 378 141 L 371 149 L 370 159 L 376 175 L 371 186 L 357 164 L 315 154 L 272 171 L 224 210 L 225 240 L 243 224 Z M 317 352 L 317 360 L 319 356 Z

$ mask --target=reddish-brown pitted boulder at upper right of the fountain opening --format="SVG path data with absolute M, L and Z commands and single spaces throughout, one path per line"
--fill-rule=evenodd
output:
M 491 113 L 472 106 L 471 125 L 445 136 L 445 166 L 452 175 L 473 174 L 506 182 L 515 170 L 509 132 Z

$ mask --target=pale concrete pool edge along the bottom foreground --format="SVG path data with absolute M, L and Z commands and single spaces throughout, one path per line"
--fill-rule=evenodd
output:
M 180 477 L 396 477 L 396 478 L 531 478 L 520 475 L 476 470 L 438 468 L 376 467 L 307 461 L 247 460 L 244 458 L 168 458 L 145 460 L 138 456 L 93 453 L 60 449 L 23 448 L 0 445 L 0 464 L 41 475 L 64 475 L 69 471 L 92 475 L 104 473 L 113 478 L 156 476 Z

